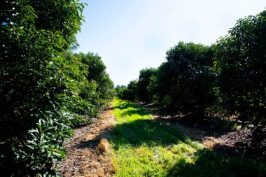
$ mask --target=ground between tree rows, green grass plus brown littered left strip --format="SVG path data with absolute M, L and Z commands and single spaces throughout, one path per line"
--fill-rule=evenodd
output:
M 216 153 L 184 129 L 115 99 L 99 120 L 74 129 L 57 169 L 62 176 L 266 176 L 265 161 Z

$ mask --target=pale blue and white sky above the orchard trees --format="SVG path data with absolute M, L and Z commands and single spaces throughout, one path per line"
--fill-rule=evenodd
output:
M 115 85 L 165 62 L 179 41 L 211 45 L 265 0 L 87 0 L 76 52 L 99 54 Z

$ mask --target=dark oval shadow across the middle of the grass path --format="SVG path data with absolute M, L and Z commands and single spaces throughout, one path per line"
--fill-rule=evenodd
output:
M 148 146 L 169 146 L 186 139 L 179 129 L 156 120 L 135 120 L 116 125 L 112 134 L 115 149 L 119 148 L 121 144 L 134 147 L 144 143 Z

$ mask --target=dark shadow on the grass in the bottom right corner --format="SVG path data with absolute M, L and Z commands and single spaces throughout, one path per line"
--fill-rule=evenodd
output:
M 266 176 L 265 161 L 247 160 L 242 157 L 228 157 L 215 151 L 202 149 L 195 153 L 193 164 L 179 160 L 167 176 Z

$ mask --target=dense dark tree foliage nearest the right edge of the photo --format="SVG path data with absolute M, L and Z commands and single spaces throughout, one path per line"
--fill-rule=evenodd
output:
M 225 111 L 266 125 L 266 10 L 240 19 L 215 50 L 216 95 Z

